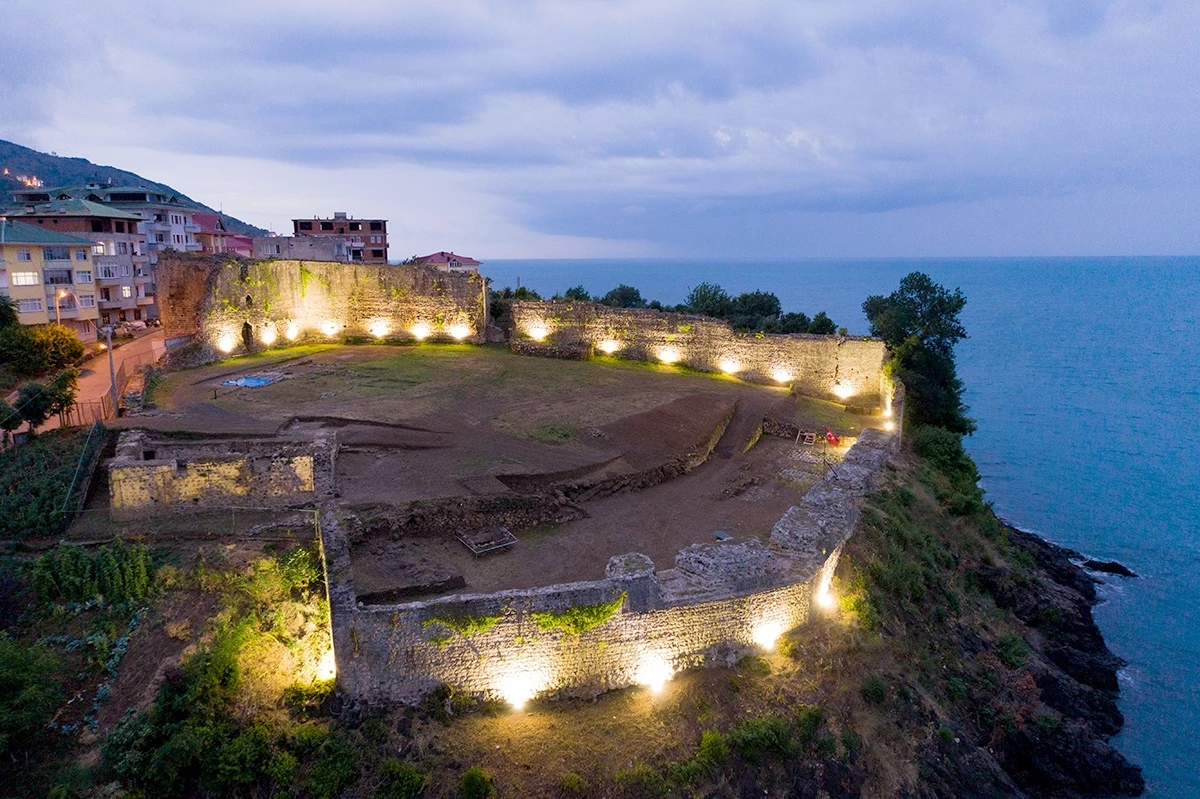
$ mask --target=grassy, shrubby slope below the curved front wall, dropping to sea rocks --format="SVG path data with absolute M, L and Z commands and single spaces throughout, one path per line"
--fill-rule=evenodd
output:
M 251 588 L 254 569 L 202 572 L 198 587 L 230 599 L 161 699 L 175 697 L 160 721 L 190 719 L 199 735 L 180 745 L 206 747 L 181 761 L 174 795 L 199 783 L 216 795 L 415 795 L 404 786 L 424 783 L 422 795 L 455 797 L 473 767 L 512 797 L 1134 792 L 1140 777 L 1104 743 L 1120 714 L 1112 662 L 1088 632 L 1090 583 L 997 522 L 960 449 L 923 450 L 898 458 L 870 498 L 839 570 L 839 609 L 775 653 L 679 675 L 658 697 L 626 690 L 512 714 L 446 691 L 418 709 L 343 704 L 335 719 L 337 702 L 287 696 L 288 680 L 245 657 L 277 649 L 274 619 L 292 600 Z M 232 636 L 244 621 L 253 635 Z M 230 647 L 241 666 L 222 671 Z M 108 762 L 136 771 L 130 746 L 110 741 Z

